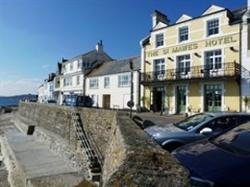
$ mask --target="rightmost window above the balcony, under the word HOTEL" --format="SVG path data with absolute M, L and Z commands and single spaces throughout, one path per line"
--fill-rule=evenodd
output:
M 222 55 L 221 50 L 207 51 L 205 52 L 205 69 L 220 69 L 222 67 Z

